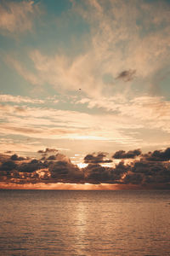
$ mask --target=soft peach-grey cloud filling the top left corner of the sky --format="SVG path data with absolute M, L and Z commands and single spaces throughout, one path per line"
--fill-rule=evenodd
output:
M 40 13 L 39 4 L 34 1 L 3 1 L 0 4 L 0 30 L 9 33 L 31 31 L 33 20 Z

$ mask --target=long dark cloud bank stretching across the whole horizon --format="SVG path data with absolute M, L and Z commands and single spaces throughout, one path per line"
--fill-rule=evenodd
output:
M 0 154 L 0 183 L 116 183 L 170 189 L 170 148 L 148 154 L 139 149 L 119 150 L 112 160 L 103 152 L 87 154 L 88 166 L 82 169 L 54 148 L 38 153 L 40 159 Z M 113 167 L 106 166 L 111 162 Z

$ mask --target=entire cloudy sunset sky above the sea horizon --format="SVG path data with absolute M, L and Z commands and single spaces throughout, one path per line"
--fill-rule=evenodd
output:
M 167 188 L 169 31 L 167 0 L 1 0 L 0 187 Z

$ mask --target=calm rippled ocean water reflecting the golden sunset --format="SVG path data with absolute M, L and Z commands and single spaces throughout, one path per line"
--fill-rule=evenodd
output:
M 0 190 L 0 255 L 170 255 L 170 191 Z

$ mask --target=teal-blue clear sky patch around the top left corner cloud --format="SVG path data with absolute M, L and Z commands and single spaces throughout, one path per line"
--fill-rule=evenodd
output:
M 7 54 L 14 52 L 16 56 L 20 55 L 19 60 L 24 60 L 31 71 L 32 62 L 29 58 L 26 60 L 26 55 L 32 49 L 38 49 L 45 55 L 61 53 L 75 57 L 89 45 L 89 26 L 79 15 L 67 13 L 71 9 L 70 1 L 50 0 L 40 3 L 43 3 L 47 10 L 41 19 L 34 20 L 36 26 L 33 32 L 20 34 L 17 40 L 9 35 L 0 36 L 0 49 Z

